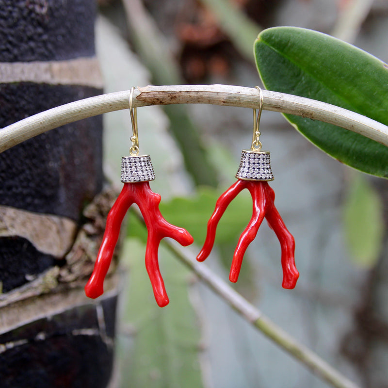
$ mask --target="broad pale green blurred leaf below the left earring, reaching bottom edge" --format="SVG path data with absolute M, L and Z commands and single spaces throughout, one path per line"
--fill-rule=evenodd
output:
M 190 271 L 161 245 L 159 261 L 170 304 L 159 307 L 144 264 L 145 246 L 127 239 L 123 256 L 129 280 L 122 292 L 124 311 L 118 337 L 121 387 L 201 388 L 200 327 L 189 299 Z M 127 328 L 127 330 L 126 330 Z

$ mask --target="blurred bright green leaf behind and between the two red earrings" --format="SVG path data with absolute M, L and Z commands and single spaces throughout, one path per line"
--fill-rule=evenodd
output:
M 184 227 L 198 244 L 205 241 L 207 224 L 215 203 L 222 193 L 211 188 L 200 188 L 193 198 L 173 198 L 160 204 L 163 217 L 171 224 Z M 245 229 L 252 214 L 252 199 L 247 190 L 240 193 L 228 206 L 217 227 L 215 243 L 235 240 Z M 245 215 L 245 217 L 244 217 Z

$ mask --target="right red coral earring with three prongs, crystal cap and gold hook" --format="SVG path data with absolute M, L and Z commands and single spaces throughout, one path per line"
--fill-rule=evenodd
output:
M 214 244 L 216 228 L 224 211 L 237 194 L 243 189 L 248 189 L 253 200 L 253 214 L 248 226 L 242 232 L 234 251 L 229 280 L 234 283 L 237 282 L 244 253 L 248 245 L 256 237 L 259 226 L 265 216 L 269 226 L 275 231 L 281 246 L 282 286 L 286 289 L 292 289 L 295 287 L 299 277 L 294 260 L 295 241 L 275 208 L 275 193 L 268 184 L 268 181 L 274 180 L 274 176 L 271 170 L 270 153 L 268 151 L 261 151 L 259 123 L 263 106 L 263 94 L 259 86 L 256 86 L 256 88 L 260 94 L 260 106 L 257 117 L 256 109 L 253 110 L 254 121 L 251 149 L 242 150 L 241 162 L 236 174 L 238 180 L 217 200 L 215 210 L 208 222 L 206 240 L 197 256 L 197 260 L 204 261 L 210 255 Z

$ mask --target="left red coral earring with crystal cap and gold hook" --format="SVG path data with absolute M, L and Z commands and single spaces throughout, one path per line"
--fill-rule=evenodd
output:
M 124 187 L 108 214 L 101 247 L 93 273 L 85 286 L 85 293 L 90 298 L 97 298 L 103 293 L 104 278 L 112 260 L 121 223 L 129 207 L 136 203 L 148 230 L 146 270 L 156 302 L 160 307 L 164 307 L 169 303 L 169 299 L 159 269 L 159 243 L 164 237 L 171 237 L 183 246 L 190 245 L 194 240 L 187 230 L 171 225 L 163 218 L 159 210 L 161 196 L 154 193 L 149 187 L 148 182 L 155 179 L 155 173 L 150 156 L 138 155 L 137 114 L 132 103 L 133 91 L 132 87 L 129 94 L 129 112 L 133 132 L 130 138 L 132 146 L 129 148 L 130 155 L 121 159 L 121 181 L 124 183 Z

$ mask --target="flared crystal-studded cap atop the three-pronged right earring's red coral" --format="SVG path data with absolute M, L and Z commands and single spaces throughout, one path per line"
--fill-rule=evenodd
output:
M 270 153 L 243 149 L 236 178 L 242 180 L 274 180 L 271 170 Z

